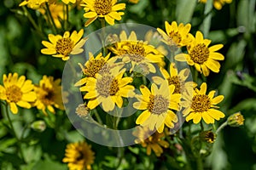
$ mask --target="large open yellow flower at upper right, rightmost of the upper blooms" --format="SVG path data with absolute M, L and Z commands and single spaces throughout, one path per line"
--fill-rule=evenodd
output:
M 196 71 L 203 73 L 205 77 L 209 76 L 210 70 L 219 72 L 220 64 L 218 60 L 224 60 L 223 54 L 216 51 L 223 48 L 223 44 L 208 47 L 211 40 L 204 39 L 201 31 L 197 31 L 193 41 L 187 46 L 189 54 L 177 54 L 177 61 L 187 61 L 189 65 L 194 65 Z

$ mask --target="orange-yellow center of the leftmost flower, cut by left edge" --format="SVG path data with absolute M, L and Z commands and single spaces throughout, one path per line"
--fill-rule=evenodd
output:
M 12 85 L 6 89 L 6 96 L 11 102 L 17 103 L 22 98 L 22 92 L 16 85 Z

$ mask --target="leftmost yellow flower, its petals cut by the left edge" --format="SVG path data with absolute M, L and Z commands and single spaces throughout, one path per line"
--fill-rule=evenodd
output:
M 6 100 L 10 106 L 10 111 L 18 113 L 18 107 L 30 109 L 30 102 L 37 99 L 33 92 L 34 85 L 31 80 L 26 80 L 25 76 L 18 76 L 17 73 L 9 73 L 8 77 L 3 75 L 3 86 L 0 85 L 0 99 Z

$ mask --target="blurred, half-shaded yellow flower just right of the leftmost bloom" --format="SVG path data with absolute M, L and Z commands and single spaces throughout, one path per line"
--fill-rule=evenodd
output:
M 55 108 L 64 110 L 61 96 L 61 79 L 54 80 L 54 77 L 44 76 L 39 85 L 35 86 L 34 91 L 37 93 L 35 106 L 47 115 L 46 109 L 55 113 Z

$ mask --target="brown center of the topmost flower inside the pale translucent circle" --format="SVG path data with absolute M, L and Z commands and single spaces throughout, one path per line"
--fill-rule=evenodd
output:
M 131 61 L 134 62 L 141 62 L 145 58 L 146 52 L 145 48 L 143 47 L 143 43 L 135 43 L 130 44 L 129 49 L 126 51 L 126 54 L 128 54 Z

